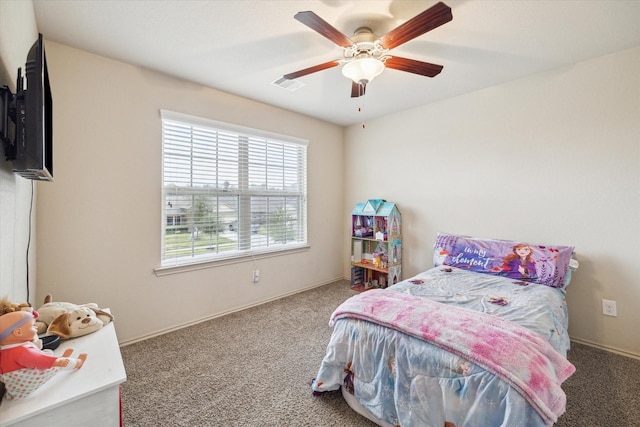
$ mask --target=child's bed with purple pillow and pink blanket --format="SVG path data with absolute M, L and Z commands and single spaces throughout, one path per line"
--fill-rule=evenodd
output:
M 573 249 L 439 233 L 432 269 L 334 311 L 313 393 L 381 426 L 554 424 Z

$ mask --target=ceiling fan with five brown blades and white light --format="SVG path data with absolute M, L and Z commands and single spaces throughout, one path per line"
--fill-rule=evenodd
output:
M 393 56 L 389 51 L 451 21 L 453 15 L 451 8 L 440 2 L 380 38 L 368 27 L 358 28 L 349 38 L 311 11 L 298 12 L 294 18 L 342 47 L 344 59 L 318 64 L 283 77 L 293 80 L 344 63 L 342 74 L 351 79 L 351 97 L 355 98 L 364 95 L 367 84 L 382 73 L 385 67 L 426 77 L 438 75 L 442 71 L 442 65 Z

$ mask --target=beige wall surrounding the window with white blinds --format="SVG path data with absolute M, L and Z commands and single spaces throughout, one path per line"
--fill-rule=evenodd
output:
M 342 277 L 341 127 L 56 43 L 47 59 L 55 182 L 38 194 L 40 304 L 52 293 L 110 307 L 129 342 Z M 311 249 L 156 277 L 160 109 L 309 140 Z

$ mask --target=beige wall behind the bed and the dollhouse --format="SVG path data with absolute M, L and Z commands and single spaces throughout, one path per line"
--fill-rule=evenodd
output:
M 640 355 L 640 47 L 349 127 L 345 164 L 345 216 L 398 204 L 405 278 L 438 231 L 573 245 L 572 338 Z

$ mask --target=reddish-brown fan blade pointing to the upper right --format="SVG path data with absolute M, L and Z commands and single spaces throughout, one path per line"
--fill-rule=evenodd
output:
M 380 37 L 385 49 L 393 49 L 453 19 L 451 8 L 440 2 Z

